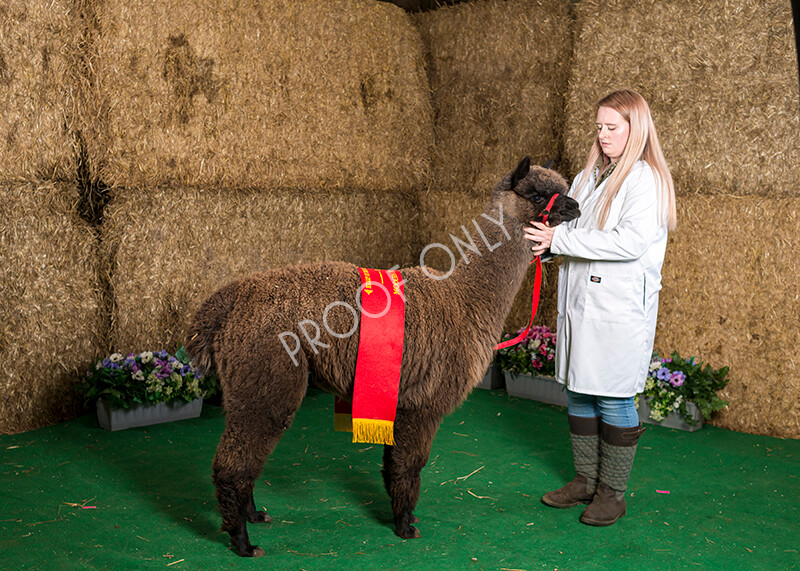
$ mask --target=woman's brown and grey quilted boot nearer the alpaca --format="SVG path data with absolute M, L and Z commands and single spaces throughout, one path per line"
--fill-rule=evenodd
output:
M 566 486 L 542 497 L 545 505 L 554 508 L 571 508 L 588 504 L 597 488 L 600 464 L 600 419 L 569 416 L 569 434 L 572 440 L 572 457 L 577 476 Z

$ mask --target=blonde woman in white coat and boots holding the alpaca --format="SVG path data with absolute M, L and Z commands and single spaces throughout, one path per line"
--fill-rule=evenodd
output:
M 653 350 L 675 191 L 650 109 L 634 91 L 597 103 L 597 136 L 570 196 L 582 216 L 555 228 L 533 222 L 534 254 L 563 255 L 558 275 L 556 378 L 566 385 L 577 476 L 542 501 L 584 503 L 581 521 L 611 525 L 644 432 L 634 396 Z

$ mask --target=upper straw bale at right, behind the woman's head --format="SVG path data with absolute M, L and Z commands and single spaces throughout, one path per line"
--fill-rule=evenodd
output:
M 800 95 L 785 0 L 581 0 L 565 151 L 580 171 L 594 105 L 651 106 L 680 194 L 800 192 Z

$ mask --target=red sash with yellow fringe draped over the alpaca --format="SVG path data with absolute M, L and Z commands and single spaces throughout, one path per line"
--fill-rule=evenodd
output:
M 361 328 L 353 404 L 351 409 L 336 399 L 334 428 L 352 430 L 353 442 L 394 444 L 405 332 L 403 282 L 395 270 L 359 268 L 359 275 Z

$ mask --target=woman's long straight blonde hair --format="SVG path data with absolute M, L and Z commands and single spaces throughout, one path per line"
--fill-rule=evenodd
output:
M 635 91 L 623 89 L 615 91 L 598 101 L 595 112 L 600 107 L 610 107 L 622 115 L 630 125 L 630 133 L 628 134 L 628 143 L 625 145 L 625 150 L 622 152 L 614 172 L 608 177 L 605 188 L 603 188 L 603 194 L 600 195 L 597 227 L 601 230 L 603 229 L 608 219 L 608 212 L 611 209 L 611 202 L 616 198 L 619 189 L 622 187 L 622 182 L 630 174 L 634 165 L 639 160 L 644 160 L 650 165 L 656 179 L 661 220 L 664 220 L 664 213 L 666 212 L 667 228 L 674 230 L 678 218 L 675 208 L 675 187 L 672 183 L 672 175 L 669 172 L 661 145 L 658 143 L 656 126 L 653 123 L 653 117 L 650 115 L 650 107 L 647 105 L 647 101 Z M 600 141 L 595 136 L 594 145 L 589 151 L 589 158 L 586 161 L 586 167 L 583 169 L 576 192 L 579 192 L 589 180 L 601 157 L 605 164 L 607 157 L 603 154 Z

